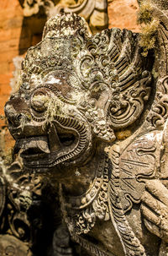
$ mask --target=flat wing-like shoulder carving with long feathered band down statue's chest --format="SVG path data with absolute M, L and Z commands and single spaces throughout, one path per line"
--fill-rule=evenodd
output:
M 162 133 L 154 131 L 135 139 L 124 150 L 119 144 L 110 150 L 113 167 L 108 185 L 109 208 L 125 255 L 133 252 L 137 256 L 148 255 L 132 230 L 126 213 L 134 204 L 140 203 L 145 182 L 158 176 L 161 139 Z

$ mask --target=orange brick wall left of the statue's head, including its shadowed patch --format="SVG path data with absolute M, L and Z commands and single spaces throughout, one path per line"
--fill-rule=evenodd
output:
M 11 93 L 10 79 L 13 78 L 13 58 L 24 56 L 29 46 L 41 39 L 45 17 L 24 18 L 18 0 L 0 0 L 0 115 Z M 6 155 L 13 146 L 7 123 L 0 119 L 0 155 Z

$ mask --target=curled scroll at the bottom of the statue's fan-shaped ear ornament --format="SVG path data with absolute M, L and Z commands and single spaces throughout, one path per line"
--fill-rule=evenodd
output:
M 130 81 L 125 84 L 125 89 L 116 86 L 108 107 L 108 118 L 114 129 L 126 128 L 139 118 L 144 110 L 144 102 L 150 96 L 150 81 L 150 73 L 144 71 L 141 78 L 137 78 L 137 81 L 135 78 L 134 83 L 128 88 Z

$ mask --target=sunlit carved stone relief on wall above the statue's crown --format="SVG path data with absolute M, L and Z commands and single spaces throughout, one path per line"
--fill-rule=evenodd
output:
M 56 14 L 74 13 L 87 20 L 92 33 L 108 28 L 108 0 L 24 0 L 20 1 L 24 16 L 44 11 L 47 19 Z

